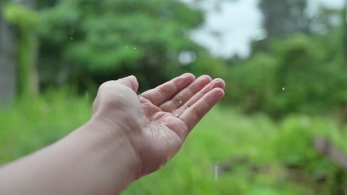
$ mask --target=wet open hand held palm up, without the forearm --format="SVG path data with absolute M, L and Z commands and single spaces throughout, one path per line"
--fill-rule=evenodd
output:
M 162 167 L 202 117 L 224 96 L 225 83 L 186 73 L 140 96 L 134 76 L 100 86 L 92 120 L 119 131 L 137 153 L 138 177 Z

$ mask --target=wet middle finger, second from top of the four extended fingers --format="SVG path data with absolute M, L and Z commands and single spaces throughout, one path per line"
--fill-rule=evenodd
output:
M 193 97 L 197 92 L 203 89 L 207 84 L 211 83 L 212 79 L 208 75 L 202 75 L 198 77 L 192 84 L 190 84 L 187 88 L 179 92 L 175 97 L 171 100 L 164 102 L 159 107 L 166 112 L 172 112 L 179 107 L 181 107 L 184 103 L 186 103 L 191 97 Z

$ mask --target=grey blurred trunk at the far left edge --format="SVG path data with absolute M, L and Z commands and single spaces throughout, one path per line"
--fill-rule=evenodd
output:
M 0 105 L 7 105 L 16 92 L 16 38 L 0 9 Z

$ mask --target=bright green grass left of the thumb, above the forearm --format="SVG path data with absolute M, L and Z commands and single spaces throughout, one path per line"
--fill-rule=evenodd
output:
M 74 90 L 50 91 L 0 109 L 0 164 L 51 144 L 88 121 L 90 101 L 75 95 Z

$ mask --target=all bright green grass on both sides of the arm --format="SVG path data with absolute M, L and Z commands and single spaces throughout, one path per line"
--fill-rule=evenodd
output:
M 49 93 L 0 110 L 0 163 L 42 148 L 90 118 L 89 98 Z M 124 194 L 334 194 L 347 177 L 313 149 L 315 135 L 347 153 L 347 137 L 331 118 L 291 115 L 273 122 L 231 107 L 213 109 L 167 166 Z M 215 180 L 215 166 L 219 167 Z

